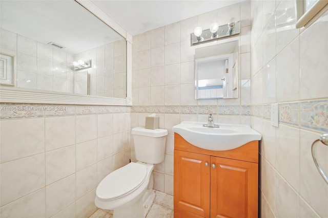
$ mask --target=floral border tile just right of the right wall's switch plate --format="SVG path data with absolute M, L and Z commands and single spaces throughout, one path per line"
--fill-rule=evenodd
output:
M 280 103 L 279 122 L 299 127 L 299 102 Z

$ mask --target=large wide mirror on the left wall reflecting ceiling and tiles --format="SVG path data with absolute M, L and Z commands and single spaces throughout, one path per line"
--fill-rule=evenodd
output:
M 126 104 L 131 96 L 127 50 L 132 37 L 127 43 L 128 34 L 113 30 L 109 23 L 115 23 L 90 1 L 2 0 L 0 4 L 0 53 L 13 62 L 12 71 L 2 71 L 12 75 L 12 81 L 1 81 L 2 102 L 7 92 L 25 92 L 42 95 L 40 101 L 52 93 L 56 100 L 60 96 L 73 100 L 62 103 L 83 104 L 90 96 L 91 104 Z M 25 99 L 32 102 L 32 97 Z

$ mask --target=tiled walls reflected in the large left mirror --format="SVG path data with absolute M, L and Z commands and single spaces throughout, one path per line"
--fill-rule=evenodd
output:
M 37 90 L 126 97 L 126 40 L 70 54 L 19 34 L 0 29 L 2 53 L 16 57 L 16 86 Z M 72 71 L 73 61 L 92 60 L 92 68 Z

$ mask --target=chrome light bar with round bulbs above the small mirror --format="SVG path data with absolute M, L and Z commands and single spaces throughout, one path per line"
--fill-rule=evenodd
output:
M 201 27 L 196 27 L 194 33 L 190 34 L 191 46 L 217 40 L 219 38 L 238 35 L 239 33 L 240 21 L 235 21 L 222 26 L 219 26 L 217 23 L 213 23 L 210 29 L 207 30 L 202 30 Z

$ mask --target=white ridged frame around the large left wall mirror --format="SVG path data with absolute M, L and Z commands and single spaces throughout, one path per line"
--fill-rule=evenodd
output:
M 53 91 L 33 90 L 12 86 L 0 86 L 0 103 L 48 103 L 81 105 L 132 105 L 132 36 L 122 29 L 113 19 L 96 7 L 90 0 L 72 0 L 87 9 L 119 35 L 126 39 L 127 48 L 127 96 L 110 98 L 103 96 L 78 95 Z M 16 65 L 14 71 L 16 72 Z

